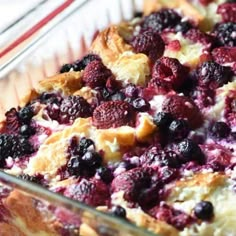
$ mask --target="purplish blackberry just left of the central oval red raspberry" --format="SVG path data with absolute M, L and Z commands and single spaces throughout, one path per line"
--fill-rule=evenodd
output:
M 60 105 L 60 123 L 71 123 L 76 118 L 87 118 L 92 115 L 90 104 L 80 96 L 69 96 Z

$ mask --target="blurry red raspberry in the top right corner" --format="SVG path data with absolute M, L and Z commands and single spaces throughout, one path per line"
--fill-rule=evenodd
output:
M 236 22 L 236 3 L 223 3 L 218 6 L 217 13 L 223 22 Z

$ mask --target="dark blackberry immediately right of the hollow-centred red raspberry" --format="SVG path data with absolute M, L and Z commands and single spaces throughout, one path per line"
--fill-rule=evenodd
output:
M 200 86 L 216 89 L 230 81 L 231 71 L 229 67 L 221 66 L 213 61 L 207 61 L 197 68 L 196 77 Z

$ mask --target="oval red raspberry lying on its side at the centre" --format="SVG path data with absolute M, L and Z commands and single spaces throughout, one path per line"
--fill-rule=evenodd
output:
M 93 124 L 99 129 L 133 125 L 135 114 L 132 106 L 124 101 L 109 101 L 98 106 L 93 112 Z

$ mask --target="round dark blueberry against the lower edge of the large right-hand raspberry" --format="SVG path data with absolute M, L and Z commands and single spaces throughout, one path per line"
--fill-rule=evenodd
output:
M 173 120 L 169 126 L 169 134 L 172 140 L 178 141 L 184 139 L 189 134 L 189 125 L 186 120 Z

